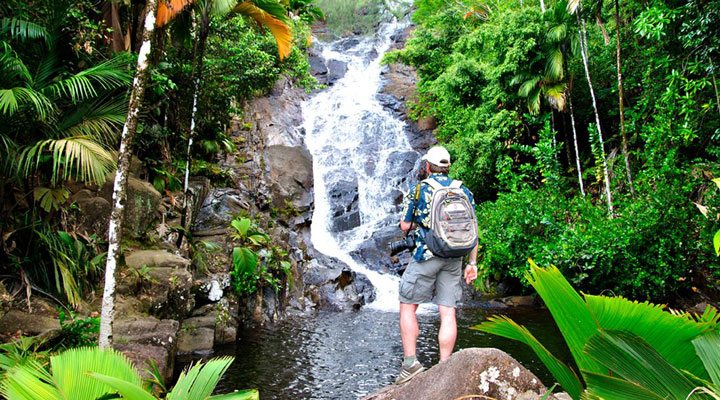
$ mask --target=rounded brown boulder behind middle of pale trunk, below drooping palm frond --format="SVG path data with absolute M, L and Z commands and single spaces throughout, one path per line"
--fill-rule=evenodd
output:
M 115 174 L 109 174 L 102 188 L 102 197 L 112 204 Z M 153 185 L 132 176 L 128 177 L 127 200 L 123 232 L 134 239 L 140 239 L 155 226 L 160 213 L 158 207 L 162 196 Z

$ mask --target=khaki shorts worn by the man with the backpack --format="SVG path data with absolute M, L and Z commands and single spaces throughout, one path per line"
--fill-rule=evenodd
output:
M 412 260 L 400 281 L 400 302 L 420 304 L 433 302 L 455 307 L 462 298 L 462 259 L 433 257 Z

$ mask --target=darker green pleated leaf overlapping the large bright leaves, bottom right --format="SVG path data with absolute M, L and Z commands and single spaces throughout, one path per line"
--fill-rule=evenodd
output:
M 684 399 L 696 387 L 639 336 L 603 331 L 590 338 L 585 352 L 613 373 L 660 398 Z

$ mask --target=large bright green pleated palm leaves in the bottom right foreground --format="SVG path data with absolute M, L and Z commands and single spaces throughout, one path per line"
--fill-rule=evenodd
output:
M 530 346 L 574 399 L 581 394 L 590 399 L 720 396 L 715 308 L 692 315 L 622 297 L 581 296 L 557 268 L 530 264 L 527 279 L 550 310 L 579 371 L 507 317 L 491 317 L 474 329 Z

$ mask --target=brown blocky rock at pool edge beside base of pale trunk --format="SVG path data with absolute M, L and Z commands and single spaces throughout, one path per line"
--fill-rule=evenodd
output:
M 143 371 L 154 361 L 166 380 L 172 379 L 177 334 L 180 324 L 175 320 L 136 317 L 115 321 L 113 347 L 123 352 Z

